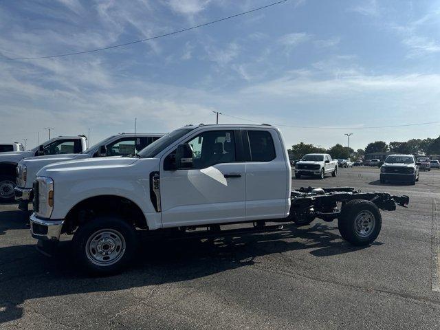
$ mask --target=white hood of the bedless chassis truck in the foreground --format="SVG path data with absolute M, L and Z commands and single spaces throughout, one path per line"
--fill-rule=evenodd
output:
M 36 175 L 51 176 L 51 173 L 65 173 L 76 172 L 80 170 L 103 170 L 105 168 L 120 168 L 129 166 L 137 162 L 138 158 L 131 157 L 102 157 L 102 158 L 87 158 L 75 159 L 67 162 L 59 162 L 56 164 L 47 165 L 39 170 Z

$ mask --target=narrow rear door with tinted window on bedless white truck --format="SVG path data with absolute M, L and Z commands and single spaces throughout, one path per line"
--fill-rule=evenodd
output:
M 250 151 L 246 162 L 246 220 L 286 217 L 292 177 L 278 133 L 255 129 L 242 135 L 244 147 Z

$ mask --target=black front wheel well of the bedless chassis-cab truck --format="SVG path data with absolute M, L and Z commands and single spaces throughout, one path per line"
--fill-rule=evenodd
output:
M 125 197 L 103 195 L 80 201 L 67 213 L 63 232 L 71 234 L 81 224 L 92 221 L 97 215 L 119 215 L 137 228 L 148 229 L 144 212 L 136 203 Z

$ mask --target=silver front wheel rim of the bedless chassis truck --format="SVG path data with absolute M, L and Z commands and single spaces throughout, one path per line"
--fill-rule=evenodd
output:
M 125 239 L 118 230 L 102 229 L 91 234 L 85 245 L 87 259 L 98 266 L 114 265 L 125 253 Z

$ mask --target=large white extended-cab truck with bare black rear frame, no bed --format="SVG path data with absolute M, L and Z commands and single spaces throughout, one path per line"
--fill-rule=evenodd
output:
M 31 234 L 46 252 L 56 251 L 61 234 L 73 234 L 74 259 L 107 274 L 136 255 L 140 230 L 220 232 L 230 223 L 264 230 L 266 221 L 338 218 L 344 239 L 366 245 L 380 232 L 379 208 L 409 201 L 354 188 L 291 191 L 291 176 L 283 137 L 273 126 L 185 126 L 135 155 L 42 168 L 34 181 Z

